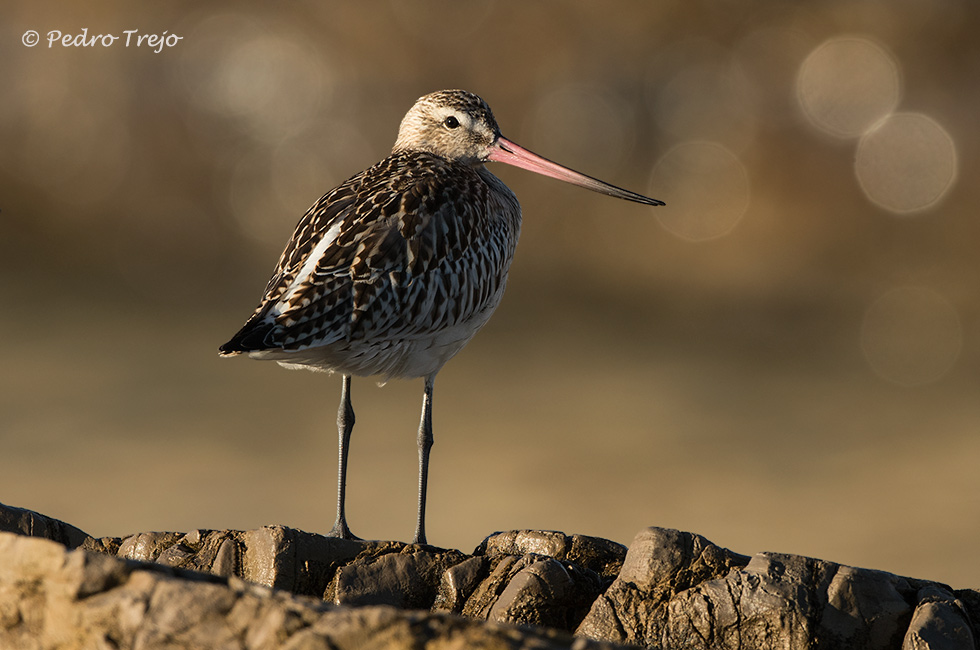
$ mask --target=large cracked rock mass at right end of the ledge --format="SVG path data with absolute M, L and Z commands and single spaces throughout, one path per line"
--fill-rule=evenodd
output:
M 577 634 L 664 649 L 973 648 L 969 620 L 935 583 L 794 555 L 749 560 L 649 528 Z

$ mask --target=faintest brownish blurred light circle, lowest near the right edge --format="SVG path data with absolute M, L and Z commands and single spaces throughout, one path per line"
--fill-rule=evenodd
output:
M 962 347 L 956 309 L 932 289 L 892 289 L 865 311 L 861 348 L 871 368 L 888 381 L 935 382 L 953 367 Z

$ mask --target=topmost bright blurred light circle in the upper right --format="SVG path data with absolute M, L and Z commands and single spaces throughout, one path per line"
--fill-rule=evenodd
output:
M 796 97 L 813 126 L 853 138 L 895 110 L 902 95 L 898 62 L 861 36 L 824 41 L 803 61 Z

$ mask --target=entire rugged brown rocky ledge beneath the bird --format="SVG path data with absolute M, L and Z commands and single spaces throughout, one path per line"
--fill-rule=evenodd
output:
M 693 533 L 471 554 L 282 526 L 96 539 L 0 504 L 0 648 L 976 648 L 980 592 Z

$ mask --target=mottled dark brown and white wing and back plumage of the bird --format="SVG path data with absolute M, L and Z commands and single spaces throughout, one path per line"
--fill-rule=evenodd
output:
M 221 351 L 395 340 L 452 326 L 503 281 L 486 277 L 500 274 L 516 244 L 516 233 L 493 227 L 500 210 L 473 168 L 393 154 L 310 208 L 261 304 Z M 484 281 L 460 295 L 474 273 Z

